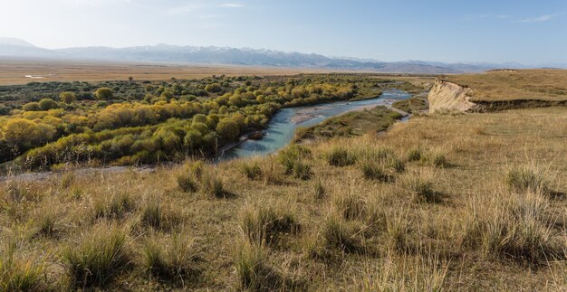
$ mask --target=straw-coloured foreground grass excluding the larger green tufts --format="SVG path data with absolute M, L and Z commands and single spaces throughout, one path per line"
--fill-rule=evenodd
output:
M 0 241 L 15 242 L 16 259 L 44 261 L 46 282 L 67 285 L 67 269 L 59 258 L 62 250 L 84 241 L 83 234 L 108 233 L 110 222 L 127 233 L 125 249 L 132 264 L 121 274 L 116 272 L 120 276 L 107 287 L 139 290 L 172 286 L 173 280 L 164 279 L 160 284 L 159 278 L 149 277 L 143 270 L 142 243 L 155 233 L 154 237 L 166 240 L 162 244 L 166 250 L 175 250 L 169 239 L 179 233 L 184 240 L 194 240 L 190 250 L 198 256 L 187 262 L 197 272 L 189 273 L 174 287 L 234 289 L 242 282 L 235 265 L 243 260 L 236 256 L 239 250 L 248 250 L 240 243 L 245 236 L 239 222 L 246 210 L 254 213 L 273 206 L 292 214 L 301 229 L 263 248 L 267 257 L 255 267 L 272 267 L 259 269 L 264 271 L 261 275 L 272 271 L 267 280 L 260 280 L 266 287 L 274 287 L 271 285 L 283 277 L 288 284 L 293 282 L 291 287 L 311 290 L 410 290 L 414 284 L 418 290 L 439 286 L 450 290 L 561 290 L 565 288 L 564 265 L 525 263 L 505 252 L 485 252 L 482 244 L 469 245 L 464 239 L 466 231 L 472 234 L 468 239 L 486 239 L 470 226 L 492 218 L 491 214 L 498 212 L 491 208 L 515 198 L 505 184 L 506 171 L 514 165 L 534 162 L 543 176 L 553 181 L 553 192 L 567 193 L 566 128 L 567 113 L 562 108 L 414 117 L 384 137 L 351 137 L 312 146 L 312 157 L 304 159 L 312 165 L 312 181 L 284 176 L 274 158 L 258 161 L 264 171 L 258 180 L 246 180 L 238 171 L 250 162 L 218 165 L 213 171 L 233 194 L 226 199 L 181 192 L 175 175 L 187 173 L 181 166 L 155 172 L 65 174 L 12 183 L 12 189 L 26 190 L 30 195 L 20 203 L 4 197 L 0 226 L 5 228 L 0 230 Z M 426 157 L 445 155 L 448 164 L 435 167 L 431 159 L 408 162 L 406 172 L 395 174 L 394 182 L 380 183 L 364 179 L 357 165 L 328 165 L 324 154 L 337 146 L 348 146 L 359 159 L 372 149 L 390 148 L 405 160 L 409 149 L 420 148 Z M 428 175 L 433 175 L 430 180 L 443 198 L 441 203 L 417 202 L 404 183 Z M 313 182 L 318 180 L 326 191 L 322 198 L 314 196 Z M 8 185 L 2 185 L 2 190 L 8 190 Z M 129 193 L 134 206 L 115 219 L 95 219 L 93 204 L 116 193 Z M 143 223 L 149 198 L 159 199 L 173 228 L 164 224 L 163 231 L 153 231 Z M 549 204 L 543 213 L 557 222 L 551 227 L 552 238 L 564 247 L 565 198 L 543 201 Z M 344 206 L 355 212 L 348 219 L 339 219 L 341 226 L 358 231 L 351 236 L 362 248 L 325 255 L 317 250 L 326 242 L 322 240 L 324 228 L 330 225 L 326 218 L 330 213 L 341 217 L 336 214 L 344 211 Z M 475 219 L 472 210 L 480 217 Z M 49 212 L 56 214 L 56 235 L 34 237 L 41 215 Z M 175 218 L 178 220 L 172 220 Z M 43 282 L 43 277 L 38 281 Z

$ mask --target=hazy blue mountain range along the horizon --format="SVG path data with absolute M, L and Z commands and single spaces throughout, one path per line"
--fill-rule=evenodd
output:
M 44 49 L 16 38 L 0 37 L 0 56 L 91 61 L 168 61 L 207 64 L 313 68 L 347 71 L 445 74 L 479 72 L 496 68 L 534 68 L 520 63 L 445 63 L 433 61 L 375 61 L 334 58 L 316 53 L 279 52 L 249 48 L 178 46 L 158 44 L 126 48 L 81 47 Z M 567 64 L 538 67 L 567 68 Z

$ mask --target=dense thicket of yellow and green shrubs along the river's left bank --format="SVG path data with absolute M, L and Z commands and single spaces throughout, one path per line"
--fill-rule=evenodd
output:
M 209 157 L 266 127 L 279 108 L 370 99 L 402 87 L 419 88 L 349 74 L 1 86 L 0 163 L 27 170 Z

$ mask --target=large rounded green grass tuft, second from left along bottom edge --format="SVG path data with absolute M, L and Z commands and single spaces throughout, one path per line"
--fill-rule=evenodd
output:
M 73 286 L 103 286 L 120 274 L 130 261 L 125 243 L 122 231 L 107 227 L 63 250 L 62 260 Z

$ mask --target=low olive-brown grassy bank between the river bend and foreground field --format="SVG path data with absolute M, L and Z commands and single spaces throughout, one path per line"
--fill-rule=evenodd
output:
M 313 127 L 300 128 L 294 141 L 329 137 L 353 137 L 370 132 L 380 132 L 391 126 L 401 114 L 383 106 L 355 110 L 341 116 L 325 119 Z

